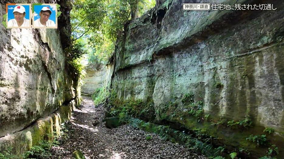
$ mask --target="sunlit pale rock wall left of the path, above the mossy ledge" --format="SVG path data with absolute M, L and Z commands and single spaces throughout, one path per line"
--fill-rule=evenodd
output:
M 17 3 L 22 3 L 23 1 Z M 0 3 L 0 19 L 5 4 Z M 29 126 L 77 96 L 57 29 L 0 25 L 0 137 Z

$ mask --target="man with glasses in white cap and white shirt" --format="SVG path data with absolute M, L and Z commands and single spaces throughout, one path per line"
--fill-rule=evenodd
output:
M 56 27 L 54 21 L 49 20 L 51 10 L 49 7 L 43 7 L 40 11 L 40 18 L 34 21 L 35 27 Z

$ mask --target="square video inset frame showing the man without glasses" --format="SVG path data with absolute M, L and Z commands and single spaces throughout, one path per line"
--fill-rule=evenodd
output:
M 7 4 L 7 28 L 31 28 L 31 4 Z

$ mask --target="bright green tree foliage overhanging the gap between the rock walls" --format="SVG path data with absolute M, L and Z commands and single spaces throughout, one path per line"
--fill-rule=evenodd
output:
M 123 25 L 153 8 L 154 0 L 74 0 L 71 10 L 72 57 L 88 55 L 89 64 L 106 64 Z

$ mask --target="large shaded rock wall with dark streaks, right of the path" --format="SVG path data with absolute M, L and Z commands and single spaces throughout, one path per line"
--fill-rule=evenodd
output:
M 235 1 L 222 2 L 234 5 Z M 283 1 L 273 1 L 277 9 L 269 11 L 183 11 L 182 3 L 166 1 L 125 27 L 113 63 L 116 101 L 152 100 L 160 120 L 164 118 L 158 112 L 173 100 L 179 103 L 178 113 L 187 112 L 189 103 L 182 98 L 193 93 L 213 121 L 249 118 L 254 127 L 213 132 L 210 122 L 206 126 L 203 120 L 191 123 L 175 115 L 168 120 L 189 129 L 210 128 L 212 136 L 239 146 L 249 134 L 272 127 L 276 133 L 271 142 L 283 147 Z

